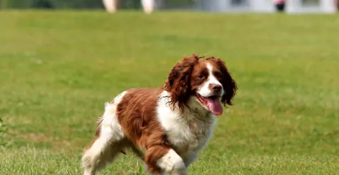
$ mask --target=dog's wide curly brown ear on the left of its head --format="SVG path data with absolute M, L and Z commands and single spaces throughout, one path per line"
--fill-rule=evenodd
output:
M 193 54 L 190 57 L 184 57 L 179 61 L 168 75 L 165 83 L 165 90 L 171 92 L 171 106 L 175 107 L 178 103 L 179 109 L 182 111 L 184 107 L 188 107 L 188 100 L 192 94 L 190 88 L 190 76 L 193 67 L 199 61 L 200 56 Z

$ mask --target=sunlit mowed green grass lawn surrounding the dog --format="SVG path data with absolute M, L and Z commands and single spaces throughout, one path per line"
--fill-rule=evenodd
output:
M 104 102 L 184 55 L 239 84 L 190 174 L 339 173 L 339 16 L 0 11 L 0 174 L 81 174 Z M 130 152 L 102 174 L 144 174 Z

